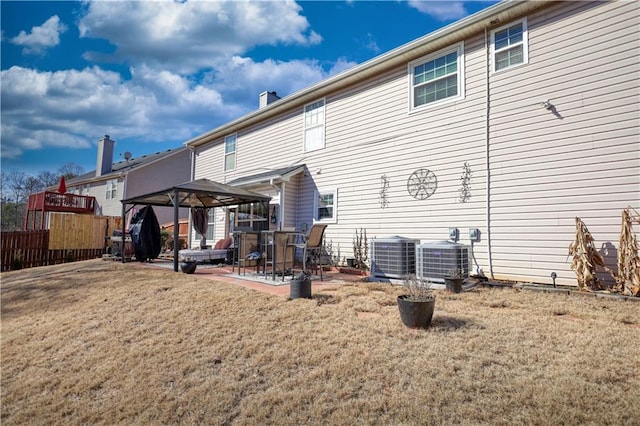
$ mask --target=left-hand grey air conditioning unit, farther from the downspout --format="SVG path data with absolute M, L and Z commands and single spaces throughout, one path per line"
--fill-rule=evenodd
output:
M 371 275 L 402 278 L 416 273 L 416 245 L 419 240 L 404 237 L 371 240 Z

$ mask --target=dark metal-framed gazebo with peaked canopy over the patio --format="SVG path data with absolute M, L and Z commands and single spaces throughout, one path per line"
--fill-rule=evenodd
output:
M 180 207 L 213 208 L 239 204 L 264 203 L 268 208 L 271 197 L 247 191 L 246 189 L 224 183 L 214 182 L 209 179 L 197 179 L 185 182 L 171 188 L 155 191 L 149 194 L 138 195 L 122 200 L 122 235 L 124 238 L 127 212 L 136 205 L 173 207 L 173 270 L 178 272 L 178 212 Z M 127 206 L 130 206 L 127 209 Z M 122 257 L 124 262 L 124 256 Z

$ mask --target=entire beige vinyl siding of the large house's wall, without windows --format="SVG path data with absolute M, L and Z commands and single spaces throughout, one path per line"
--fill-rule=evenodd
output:
M 337 223 L 326 237 L 343 257 L 360 227 L 369 239 L 422 242 L 446 240 L 457 227 L 464 244 L 473 227 L 485 274 L 551 282 L 555 271 L 557 283 L 576 285 L 567 259 L 575 216 L 599 244 L 615 246 L 621 209 L 640 204 L 638 3 L 558 3 L 527 20 L 529 63 L 520 67 L 489 74 L 485 34 L 464 40 L 464 99 L 409 112 L 408 69 L 398 67 L 325 97 L 324 149 L 303 152 L 300 107 L 239 132 L 233 173 L 222 170 L 222 138 L 201 149 L 195 178 L 230 181 L 306 164 L 307 173 L 286 184 L 284 226 L 310 226 L 314 191 L 337 189 Z M 557 115 L 541 106 L 545 99 Z M 462 203 L 465 162 L 471 197 Z M 407 179 L 423 168 L 438 186 L 417 200 Z

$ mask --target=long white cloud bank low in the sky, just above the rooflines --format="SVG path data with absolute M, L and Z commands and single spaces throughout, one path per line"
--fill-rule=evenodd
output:
M 2 157 L 88 147 L 102 134 L 177 145 L 257 109 L 265 90 L 285 96 L 353 65 L 338 60 L 325 72 L 317 61 L 233 57 L 198 81 L 145 65 L 130 69 L 131 80 L 99 67 L 40 72 L 14 66 L 0 74 Z

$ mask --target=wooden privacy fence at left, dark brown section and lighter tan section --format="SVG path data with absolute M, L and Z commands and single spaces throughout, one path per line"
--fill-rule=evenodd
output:
M 2 232 L 2 271 L 101 257 L 122 218 L 51 213 L 49 228 Z

